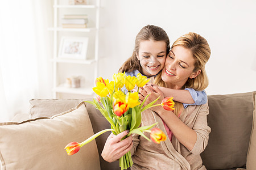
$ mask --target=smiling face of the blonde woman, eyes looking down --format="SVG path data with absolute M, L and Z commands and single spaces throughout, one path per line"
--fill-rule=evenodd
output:
M 201 70 L 193 72 L 195 59 L 191 50 L 183 46 L 174 46 L 166 57 L 166 63 L 162 71 L 162 79 L 167 87 L 180 89 L 188 78 L 195 78 Z

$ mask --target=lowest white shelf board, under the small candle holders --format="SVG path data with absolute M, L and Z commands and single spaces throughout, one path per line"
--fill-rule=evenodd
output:
M 77 95 L 93 95 L 92 88 L 72 88 L 64 87 L 64 85 L 53 88 L 54 92 L 65 93 L 65 94 L 77 94 Z

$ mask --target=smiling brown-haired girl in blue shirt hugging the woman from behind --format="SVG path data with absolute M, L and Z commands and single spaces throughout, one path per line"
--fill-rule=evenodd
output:
M 147 77 L 156 76 L 163 69 L 167 54 L 171 55 L 169 52 L 170 40 L 164 29 L 155 25 L 146 25 L 136 36 L 133 55 L 123 63 L 119 72 L 125 71 L 125 74 L 130 76 L 137 76 L 138 73 Z M 183 67 L 181 63 L 179 66 Z M 184 108 L 188 105 L 207 103 L 205 91 L 195 91 L 193 88 L 175 90 L 157 87 L 163 91 L 165 97 L 172 96 L 175 101 L 183 103 Z

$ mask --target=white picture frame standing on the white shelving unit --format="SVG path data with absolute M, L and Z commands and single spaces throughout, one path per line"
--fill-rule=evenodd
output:
M 88 37 L 61 37 L 58 58 L 86 59 Z

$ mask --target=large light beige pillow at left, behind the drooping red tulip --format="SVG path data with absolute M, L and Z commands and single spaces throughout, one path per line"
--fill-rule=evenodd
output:
M 82 102 L 51 118 L 0 123 L 0 159 L 5 169 L 100 169 L 96 142 L 68 156 L 64 147 L 93 135 Z M 88 154 L 89 153 L 89 154 Z

